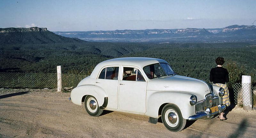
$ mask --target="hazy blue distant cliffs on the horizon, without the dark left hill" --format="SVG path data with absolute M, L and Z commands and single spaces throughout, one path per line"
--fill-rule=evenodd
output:
M 86 41 L 108 42 L 250 42 L 256 43 L 255 25 L 231 25 L 224 28 L 146 29 L 115 31 L 53 32 Z

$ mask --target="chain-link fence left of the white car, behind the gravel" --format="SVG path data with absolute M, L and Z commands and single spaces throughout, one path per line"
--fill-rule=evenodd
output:
M 76 87 L 86 76 L 61 74 L 62 87 Z M 0 87 L 57 88 L 57 73 L 0 73 Z

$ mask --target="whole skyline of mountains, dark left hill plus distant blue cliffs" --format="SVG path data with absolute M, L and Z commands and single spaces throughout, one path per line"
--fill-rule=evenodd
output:
M 256 44 L 255 25 L 224 28 L 146 29 L 115 31 L 51 32 L 47 28 L 0 28 L 0 45 L 96 42 L 223 43 Z

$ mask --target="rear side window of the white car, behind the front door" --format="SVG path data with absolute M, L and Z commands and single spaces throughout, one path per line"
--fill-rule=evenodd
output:
M 119 71 L 119 67 L 104 68 L 100 72 L 99 79 L 117 80 L 118 71 Z

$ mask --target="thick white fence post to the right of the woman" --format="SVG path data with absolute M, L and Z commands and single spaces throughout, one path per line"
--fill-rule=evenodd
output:
M 243 109 L 252 110 L 251 76 L 242 76 Z

